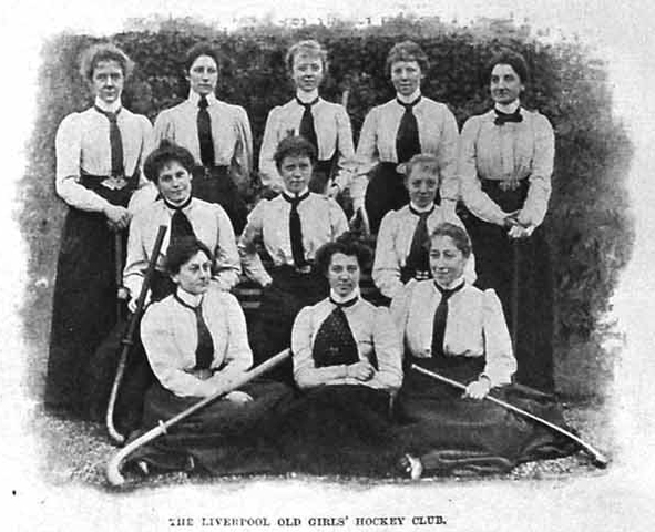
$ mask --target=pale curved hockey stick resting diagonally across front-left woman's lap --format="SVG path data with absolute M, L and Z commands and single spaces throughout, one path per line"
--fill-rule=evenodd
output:
M 154 429 L 149 430 L 147 432 L 136 438 L 134 441 L 127 443 L 123 449 L 116 452 L 106 464 L 105 474 L 109 483 L 111 485 L 119 487 L 125 482 L 125 479 L 121 474 L 121 464 L 136 449 L 146 443 L 150 443 L 155 438 L 165 434 L 171 427 L 178 423 L 183 419 L 188 418 L 198 410 L 202 410 L 203 408 L 216 401 L 226 393 L 229 393 L 231 391 L 234 391 L 240 388 L 242 386 L 248 383 L 253 379 L 256 379 L 260 375 L 265 374 L 269 369 L 274 368 L 285 359 L 287 359 L 290 355 L 291 351 L 288 348 L 284 351 L 278 352 L 274 357 L 262 362 L 259 366 L 256 366 L 249 371 L 240 374 L 234 377 L 232 380 L 225 382 L 214 395 L 205 397 L 204 399 L 199 400 L 195 405 L 192 405 L 186 410 L 180 412 L 177 416 L 174 416 L 167 421 L 160 421 L 160 424 L 157 424 Z

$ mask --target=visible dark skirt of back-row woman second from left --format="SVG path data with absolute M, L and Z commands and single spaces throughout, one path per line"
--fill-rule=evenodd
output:
M 229 175 L 227 166 L 193 171 L 193 195 L 199 200 L 221 205 L 232 222 L 235 235 L 240 235 L 246 226 L 248 208 Z

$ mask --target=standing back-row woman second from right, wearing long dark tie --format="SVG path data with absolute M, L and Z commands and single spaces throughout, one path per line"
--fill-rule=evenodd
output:
M 359 177 L 351 186 L 354 208 L 362 204 L 372 233 L 389 211 L 407 205 L 409 197 L 397 166 L 417 153 L 432 153 L 439 160 L 440 203 L 454 213 L 459 195 L 456 176 L 458 127 L 443 103 L 421 94 L 428 58 L 411 41 L 396 44 L 387 57 L 387 71 L 396 98 L 373 108 L 364 121 L 357 161 Z M 366 175 L 370 175 L 367 183 Z M 368 186 L 367 186 L 368 185 Z

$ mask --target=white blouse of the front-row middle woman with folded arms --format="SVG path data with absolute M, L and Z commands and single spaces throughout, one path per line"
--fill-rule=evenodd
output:
M 370 388 L 393 391 L 402 381 L 401 342 L 388 309 L 375 307 L 367 300 L 359 300 L 345 307 L 344 314 L 357 344 L 359 360 L 371 360 L 375 352 L 378 370 L 372 378 L 361 381 L 345 377 L 346 366 L 317 368 L 311 357 L 316 335 L 325 319 L 335 309 L 329 298 L 310 307 L 305 307 L 294 323 L 291 351 L 294 354 L 294 378 L 300 388 L 320 385 L 361 385 Z

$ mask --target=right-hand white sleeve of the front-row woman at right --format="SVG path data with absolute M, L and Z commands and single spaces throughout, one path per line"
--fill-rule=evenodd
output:
M 512 351 L 512 340 L 503 315 L 502 305 L 493 289 L 483 295 L 483 337 L 487 365 L 484 374 L 491 386 L 509 385 L 516 371 L 516 359 Z

